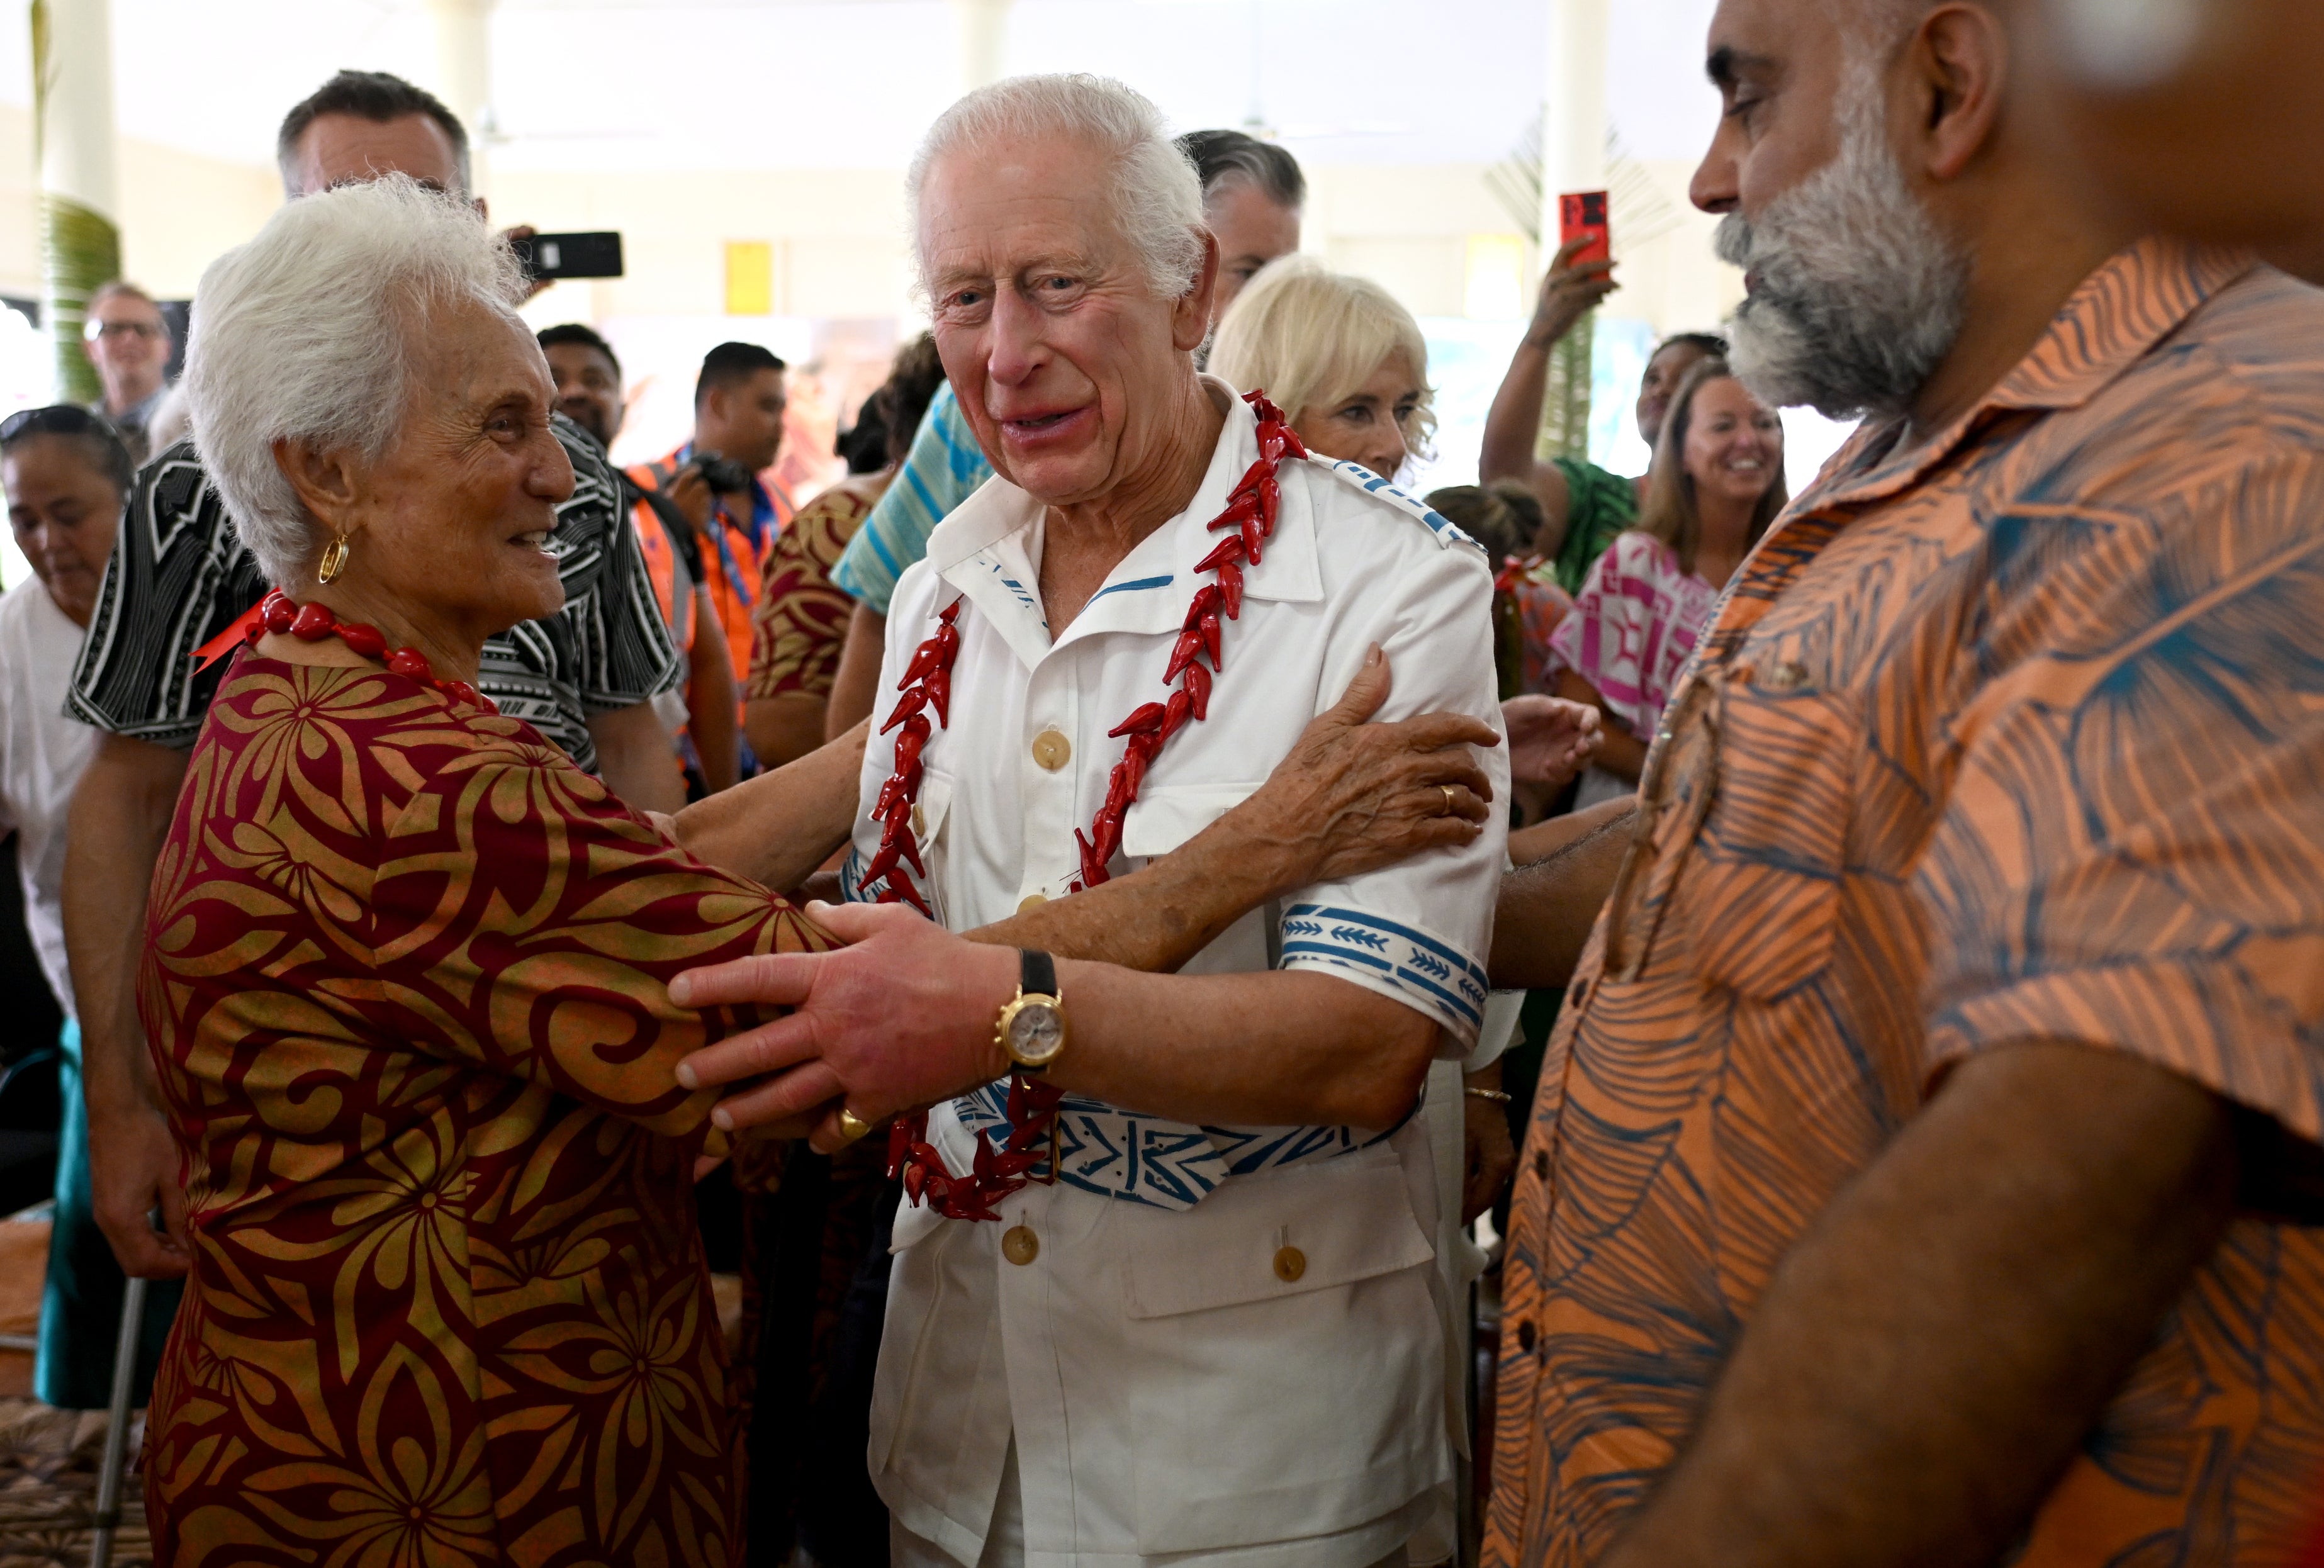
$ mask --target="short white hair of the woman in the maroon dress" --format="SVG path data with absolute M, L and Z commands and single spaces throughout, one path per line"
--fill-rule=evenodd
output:
M 476 302 L 518 321 L 523 297 L 483 216 L 407 174 L 286 202 L 209 265 L 186 344 L 193 444 L 277 585 L 321 544 L 277 441 L 379 462 L 402 432 L 428 316 Z

